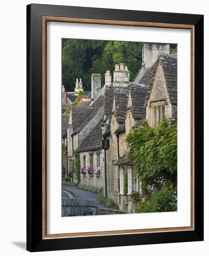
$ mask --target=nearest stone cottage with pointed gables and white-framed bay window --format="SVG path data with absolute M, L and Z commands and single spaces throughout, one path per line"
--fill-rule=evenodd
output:
M 132 191 L 142 194 L 142 190 L 134 166 L 127 159 L 127 133 L 145 120 L 150 126 L 156 126 L 163 118 L 177 117 L 177 56 L 169 54 L 169 45 L 159 44 L 144 44 L 142 56 L 142 67 L 133 82 L 128 81 L 124 72 L 127 67 L 117 65 L 114 80 L 120 70 L 120 82 L 113 81 L 104 92 L 103 137 L 110 141 L 104 170 L 107 195 L 128 212 L 133 205 L 130 200 L 125 201 L 125 197 Z M 125 175 L 127 195 L 124 195 Z

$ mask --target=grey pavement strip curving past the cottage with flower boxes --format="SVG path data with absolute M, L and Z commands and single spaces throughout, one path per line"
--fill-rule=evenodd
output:
M 83 189 L 79 189 L 78 187 L 71 187 L 71 186 L 68 186 L 68 185 L 62 185 L 62 188 L 66 191 L 74 193 L 75 195 L 77 195 L 81 199 L 98 201 L 98 194 L 97 193 L 90 192 L 90 191 L 83 190 Z M 99 202 L 98 202 L 98 207 L 108 209 L 108 207 L 106 205 L 101 204 Z

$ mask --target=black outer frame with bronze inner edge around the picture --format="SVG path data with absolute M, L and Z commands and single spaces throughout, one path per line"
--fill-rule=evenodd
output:
M 195 26 L 195 230 L 42 239 L 42 16 Z M 203 241 L 203 15 L 89 7 L 27 6 L 27 250 L 46 251 Z

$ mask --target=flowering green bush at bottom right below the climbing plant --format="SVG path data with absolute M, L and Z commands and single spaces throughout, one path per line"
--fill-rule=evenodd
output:
M 153 189 L 150 196 L 139 203 L 138 212 L 177 211 L 177 188 L 172 183 L 162 182 L 159 188 Z

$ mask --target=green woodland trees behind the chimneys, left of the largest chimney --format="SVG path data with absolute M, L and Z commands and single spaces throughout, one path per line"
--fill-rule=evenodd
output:
M 114 65 L 128 66 L 132 80 L 141 67 L 142 43 L 104 40 L 62 40 L 62 83 L 67 91 L 73 91 L 76 78 L 82 78 L 84 90 L 90 90 L 92 73 L 101 74 L 102 85 L 106 70 L 114 71 Z

